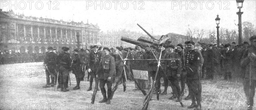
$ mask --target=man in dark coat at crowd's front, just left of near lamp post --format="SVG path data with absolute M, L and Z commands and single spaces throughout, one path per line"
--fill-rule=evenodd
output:
M 222 51 L 222 64 L 224 69 L 224 79 L 232 79 L 231 63 L 233 58 L 233 51 L 230 49 L 230 44 L 225 44 L 224 50 Z

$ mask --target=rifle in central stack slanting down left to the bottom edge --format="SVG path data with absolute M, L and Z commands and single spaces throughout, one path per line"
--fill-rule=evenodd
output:
M 152 50 L 151 50 L 152 51 Z M 162 56 L 162 51 L 163 51 L 163 48 L 161 48 L 161 53 L 160 53 L 160 58 L 159 59 L 161 59 L 161 56 Z M 153 52 L 153 51 L 152 51 Z M 153 54 L 154 54 L 154 52 L 153 52 Z M 155 83 L 156 83 L 156 80 L 157 80 L 157 73 L 158 73 L 158 70 L 159 70 L 159 67 L 160 67 L 160 60 L 158 60 L 158 65 L 157 65 L 157 71 L 156 71 L 156 74 L 155 74 L 155 77 L 154 77 L 154 82 L 153 82 L 153 84 L 152 84 L 152 87 L 151 87 L 151 89 L 150 89 L 150 92 L 148 93 L 148 96 L 146 96 L 146 98 L 145 98 L 145 100 L 144 100 L 144 102 L 143 102 L 143 108 L 142 108 L 142 110 L 147 110 L 148 109 L 148 103 L 149 103 L 149 101 L 150 101 L 150 99 L 152 98 L 152 92 L 153 92 L 153 89 L 154 89 L 154 85 L 155 85 Z M 158 99 L 159 99 L 159 90 L 157 91 L 157 97 L 158 97 Z

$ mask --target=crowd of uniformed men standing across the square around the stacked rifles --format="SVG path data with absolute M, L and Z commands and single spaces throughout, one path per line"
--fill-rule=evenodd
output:
M 252 109 L 253 97 L 256 86 L 256 37 L 250 38 L 250 44 L 244 42 L 244 45 L 235 46 L 225 44 L 221 48 L 215 47 L 212 44 L 201 43 L 202 50 L 195 49 L 195 42 L 187 41 L 185 46 L 182 44 L 176 45 L 148 45 L 143 47 L 137 45 L 135 48 L 107 48 L 103 49 L 94 45 L 90 50 L 78 49 L 73 50 L 73 54 L 69 54 L 69 48 L 63 47 L 60 54 L 55 54 L 52 47 L 48 48 L 44 63 L 47 67 L 47 85 L 50 87 L 56 85 L 61 88 L 61 91 L 68 91 L 69 72 L 76 76 L 76 87 L 73 90 L 80 89 L 80 81 L 84 80 L 84 73 L 88 71 L 88 78 L 90 77 L 90 86 L 87 91 L 92 90 L 93 79 L 99 79 L 99 88 L 101 90 L 103 99 L 100 103 L 106 102 L 110 104 L 112 85 L 117 79 L 127 76 L 128 79 L 133 80 L 134 77 L 131 68 L 124 65 L 130 65 L 125 62 L 129 59 L 156 59 L 148 61 L 148 88 L 155 88 L 156 94 L 166 95 L 168 86 L 172 88 L 172 96 L 169 99 L 176 99 L 176 102 L 182 101 L 184 95 L 185 85 L 189 88 L 189 95 L 186 100 L 191 99 L 192 104 L 188 108 L 195 108 L 201 110 L 201 79 L 204 76 L 207 79 L 213 79 L 216 65 L 222 65 L 224 70 L 224 79 L 232 79 L 232 67 L 234 53 L 240 53 L 238 57 L 241 63 L 241 74 L 244 77 L 244 91 L 247 96 L 248 109 Z M 241 49 L 243 48 L 243 49 Z M 158 60 L 160 65 L 158 65 Z M 124 63 L 125 62 L 125 63 Z M 57 68 L 57 69 L 56 69 Z M 155 78 L 156 71 L 158 71 Z M 126 72 L 125 72 L 126 71 Z M 49 76 L 51 76 L 51 83 L 49 83 Z M 251 77 L 251 78 L 250 78 Z M 161 82 L 163 78 L 164 90 L 161 93 Z M 138 83 L 136 87 L 146 89 L 146 82 L 143 79 L 134 79 Z M 151 85 L 155 80 L 155 85 Z M 181 87 L 179 85 L 181 83 Z M 107 92 L 105 90 L 107 85 Z M 98 89 L 99 90 L 99 89 Z M 137 89 L 138 90 L 138 89 Z

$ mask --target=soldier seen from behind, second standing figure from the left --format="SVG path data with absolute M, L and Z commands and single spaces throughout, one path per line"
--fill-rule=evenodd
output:
M 68 53 L 69 48 L 63 47 L 63 53 L 58 55 L 57 64 L 59 65 L 59 78 L 60 83 L 59 86 L 61 87 L 61 91 L 67 92 L 68 86 L 68 76 L 69 70 L 71 66 L 72 59 L 70 58 L 70 54 Z M 57 87 L 58 88 L 58 87 Z

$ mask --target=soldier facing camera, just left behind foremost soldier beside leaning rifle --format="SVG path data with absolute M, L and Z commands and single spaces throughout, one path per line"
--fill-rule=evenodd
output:
M 87 91 L 92 90 L 93 78 L 96 77 L 97 69 L 99 68 L 99 62 L 101 60 L 102 53 L 98 51 L 98 46 L 93 46 L 93 51 L 89 54 L 89 65 L 88 65 L 88 73 L 90 73 L 90 87 Z M 96 78 L 95 78 L 96 79 Z M 99 90 L 99 88 L 98 88 Z

